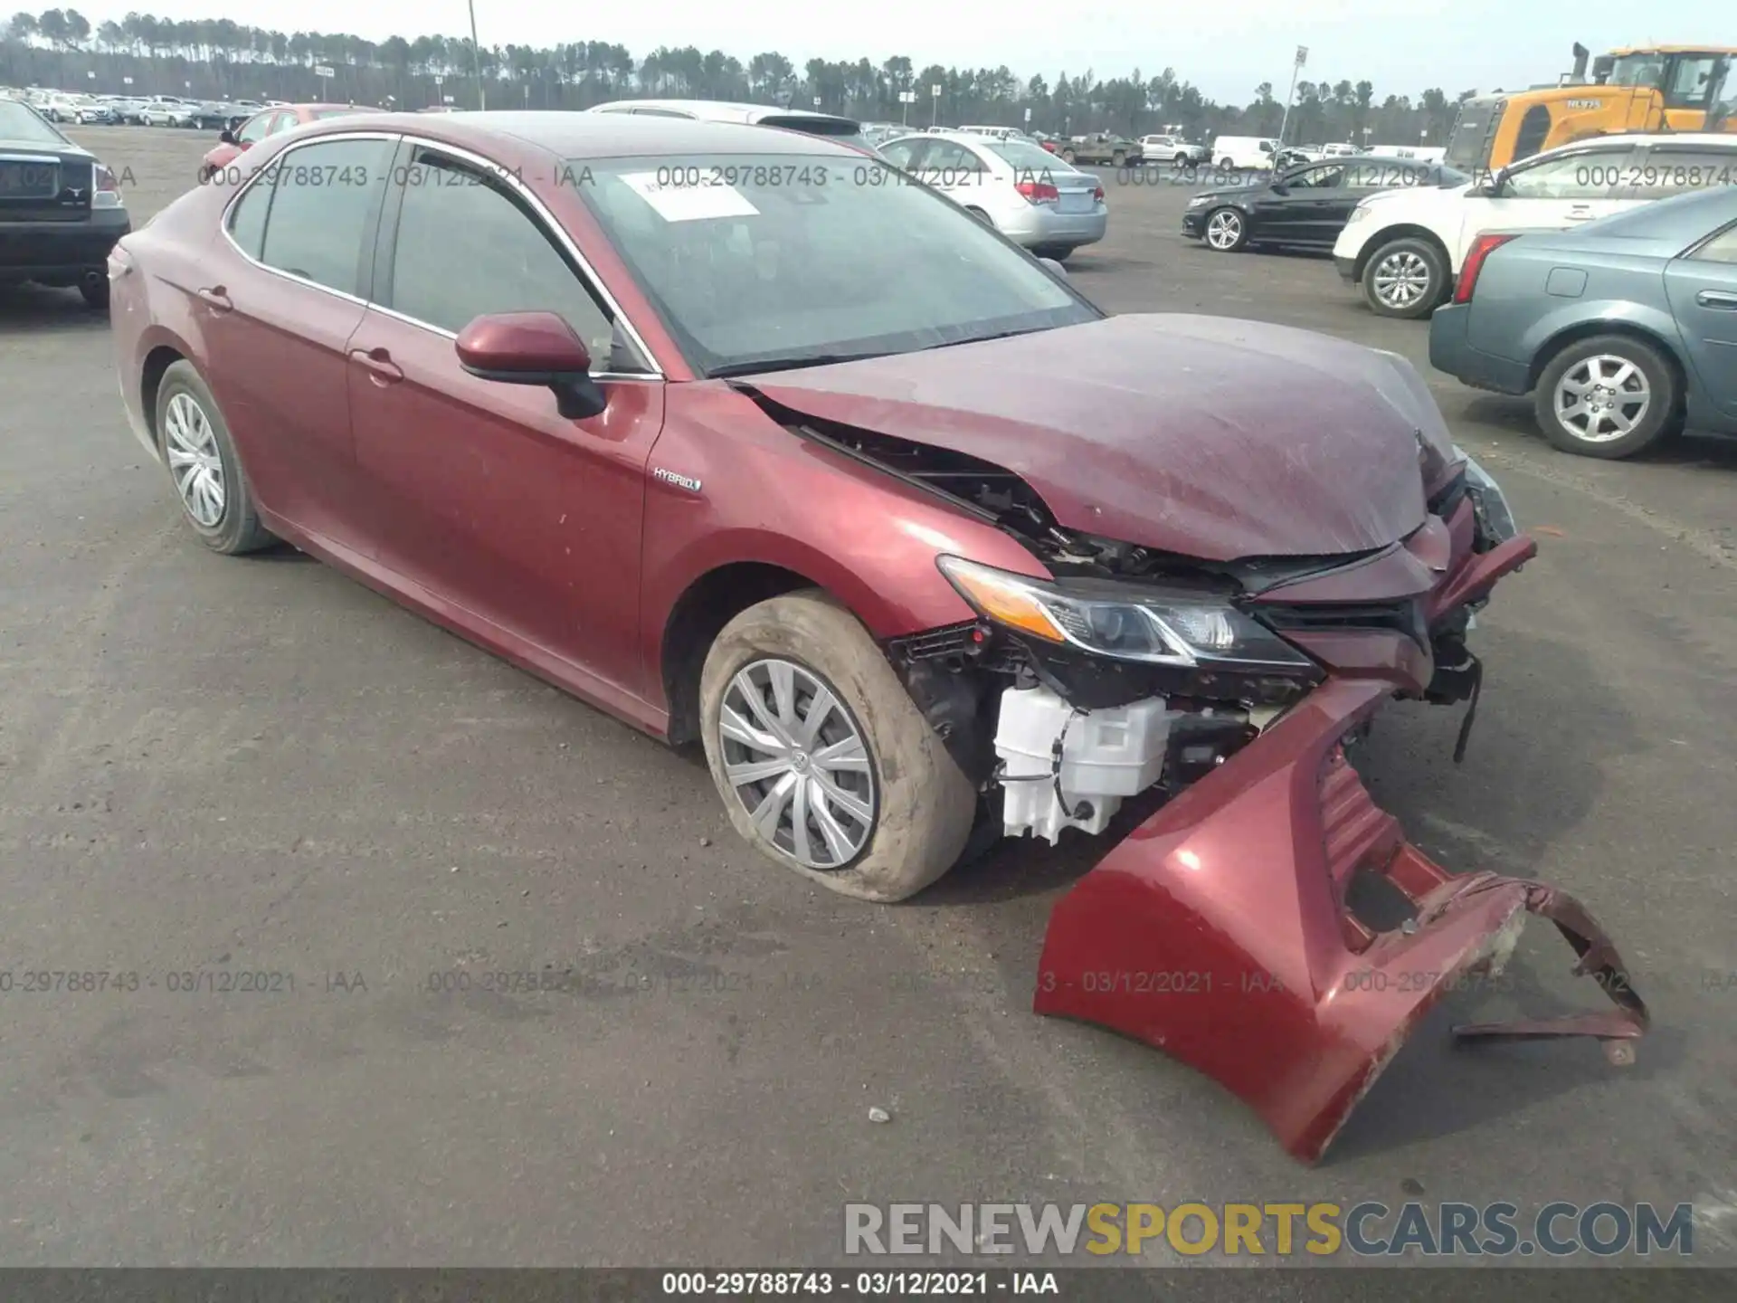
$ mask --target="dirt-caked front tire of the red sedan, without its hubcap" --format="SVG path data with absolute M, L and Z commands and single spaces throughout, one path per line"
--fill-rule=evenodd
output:
M 724 775 L 719 711 L 736 672 L 768 657 L 818 676 L 862 733 L 875 785 L 868 839 L 842 869 L 809 869 L 754 827 Z M 855 615 L 820 589 L 749 606 L 724 625 L 700 672 L 700 733 L 730 822 L 763 855 L 858 900 L 915 895 L 957 863 L 971 837 L 976 790 Z

